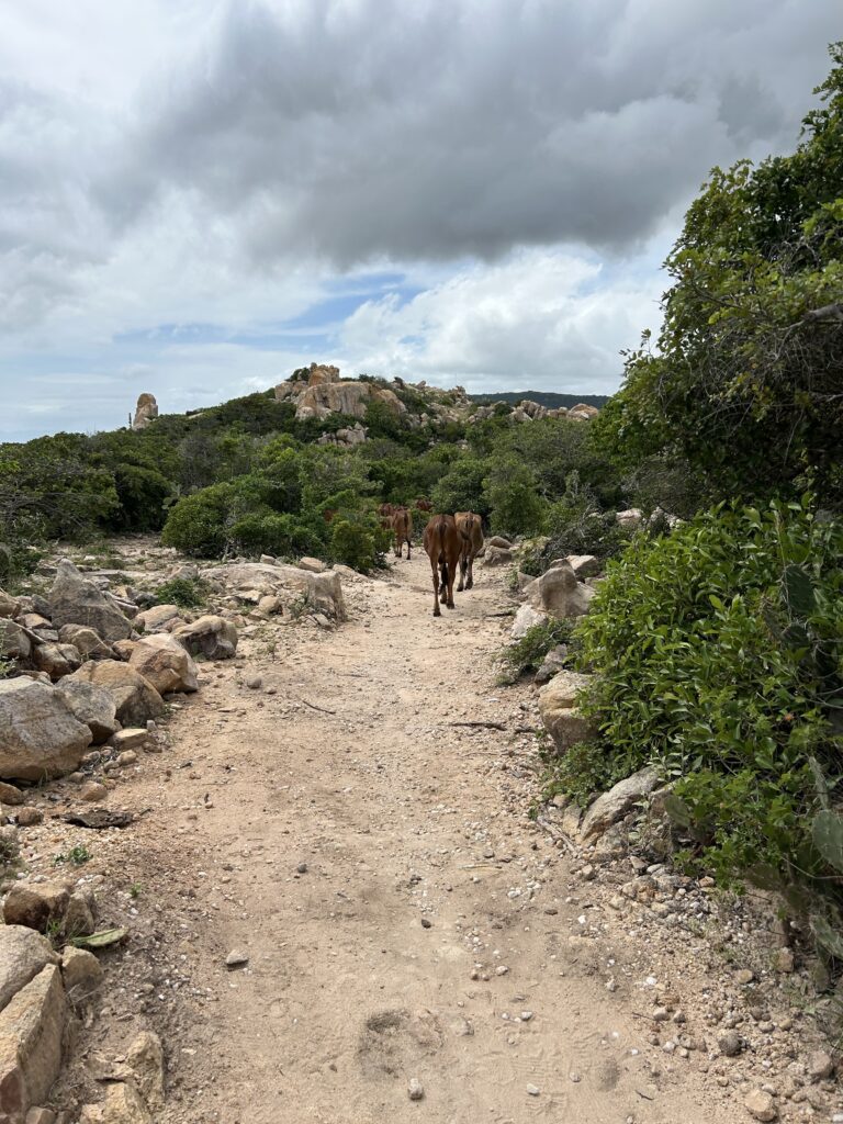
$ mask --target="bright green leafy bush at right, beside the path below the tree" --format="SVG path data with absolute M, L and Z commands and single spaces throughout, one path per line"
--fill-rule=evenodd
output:
M 809 504 L 715 508 L 609 563 L 579 628 L 600 787 L 647 763 L 722 881 L 827 873 L 813 759 L 843 751 L 843 524 Z

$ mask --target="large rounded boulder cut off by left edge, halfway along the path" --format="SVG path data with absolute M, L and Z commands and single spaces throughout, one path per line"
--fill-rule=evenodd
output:
M 91 731 L 56 688 L 19 676 L 0 680 L 0 777 L 43 780 L 79 768 Z

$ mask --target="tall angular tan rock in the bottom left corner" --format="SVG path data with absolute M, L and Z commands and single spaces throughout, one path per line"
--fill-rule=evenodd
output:
M 67 1004 L 47 964 L 0 1012 L 0 1120 L 20 1122 L 47 1099 L 62 1064 Z

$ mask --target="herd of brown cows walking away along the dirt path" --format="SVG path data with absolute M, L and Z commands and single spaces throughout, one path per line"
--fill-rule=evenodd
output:
M 429 500 L 416 500 L 416 509 L 432 511 Z M 396 558 L 404 558 L 407 543 L 407 559 L 413 549 L 413 516 L 408 508 L 393 504 L 382 504 L 378 509 L 383 526 L 395 535 Z M 483 528 L 480 516 L 473 511 L 456 511 L 454 515 L 434 515 L 425 527 L 425 552 L 433 571 L 433 615 L 442 616 L 439 598 L 448 609 L 454 608 L 454 581 L 460 571 L 457 593 L 474 584 L 474 559 L 483 546 Z

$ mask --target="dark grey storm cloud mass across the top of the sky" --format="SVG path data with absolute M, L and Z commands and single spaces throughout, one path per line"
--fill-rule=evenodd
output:
M 713 163 L 792 145 L 840 17 L 809 8 L 238 0 L 158 87 L 137 152 L 259 263 L 623 250 Z

